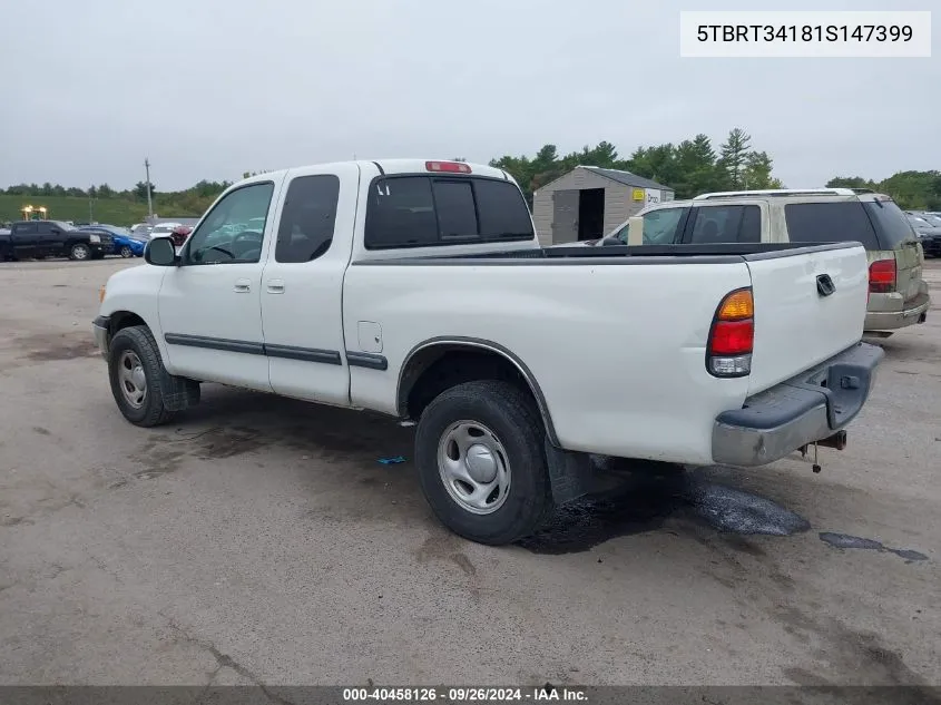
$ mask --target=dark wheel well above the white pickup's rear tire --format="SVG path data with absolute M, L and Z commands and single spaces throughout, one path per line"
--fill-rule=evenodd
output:
M 415 352 L 405 363 L 399 381 L 399 413 L 418 419 L 441 392 L 474 380 L 500 380 L 526 392 L 542 417 L 549 440 L 557 443 L 552 420 L 536 380 L 511 353 L 496 346 L 440 343 Z

